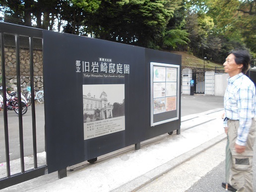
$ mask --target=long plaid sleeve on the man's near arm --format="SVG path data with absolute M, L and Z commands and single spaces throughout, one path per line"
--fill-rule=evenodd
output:
M 246 145 L 248 133 L 252 125 L 252 91 L 251 86 L 241 87 L 238 91 L 239 128 L 236 140 L 238 145 Z

